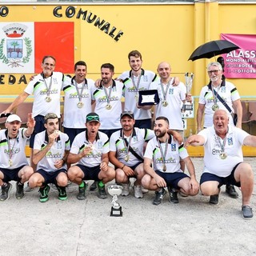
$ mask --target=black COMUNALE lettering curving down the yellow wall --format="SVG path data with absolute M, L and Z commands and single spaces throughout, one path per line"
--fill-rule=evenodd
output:
M 74 6 L 68 6 L 64 11 L 62 10 L 62 6 L 56 6 L 54 8 L 53 14 L 57 18 L 62 18 L 63 14 L 66 16 L 66 18 L 72 18 L 74 17 L 74 15 L 76 15 L 75 18 L 82 18 L 82 20 L 93 24 L 99 30 L 102 30 L 103 32 L 108 34 L 116 42 L 118 42 L 118 40 L 123 35 L 122 30 L 119 30 L 118 33 L 116 33 L 117 28 L 115 26 L 111 26 L 109 22 L 106 22 L 104 19 L 98 17 L 96 14 L 88 12 L 87 10 L 82 10 L 81 8 L 77 11 Z

